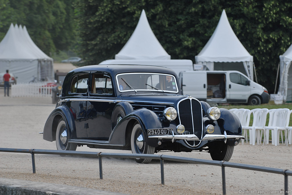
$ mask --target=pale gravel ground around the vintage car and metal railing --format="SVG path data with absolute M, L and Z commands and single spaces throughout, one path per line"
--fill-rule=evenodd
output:
M 51 98 L 4 97 L 0 88 L 0 147 L 55 150 L 55 142 L 43 140 L 48 115 L 55 108 Z M 77 147 L 78 151 L 131 153 L 122 150 Z M 292 170 L 291 145 L 249 145 L 234 148 L 230 162 Z M 211 160 L 206 152 L 174 153 L 180 157 Z M 99 179 L 97 158 L 60 157 L 36 154 L 36 173 L 32 173 L 30 154 L 0 152 L 0 177 L 88 187 L 125 194 L 222 194 L 222 173 L 219 166 L 165 161 L 165 185 L 161 185 L 160 163 L 138 164 L 132 159 L 103 158 L 103 180 Z M 284 190 L 284 176 L 238 168 L 225 168 L 227 194 L 245 194 L 251 190 Z M 288 189 L 292 187 L 291 177 Z M 247 193 L 249 191 L 249 193 Z M 283 194 L 283 193 L 275 193 Z

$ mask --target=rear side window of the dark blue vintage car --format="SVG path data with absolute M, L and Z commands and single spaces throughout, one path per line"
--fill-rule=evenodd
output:
M 74 77 L 71 83 L 70 93 L 87 93 L 87 80 L 88 74 L 77 75 L 76 77 Z

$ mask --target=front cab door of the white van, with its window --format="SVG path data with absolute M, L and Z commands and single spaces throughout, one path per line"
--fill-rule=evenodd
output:
M 249 80 L 244 75 L 239 73 L 229 73 L 229 99 L 228 102 L 247 102 L 247 99 L 251 93 L 249 87 Z

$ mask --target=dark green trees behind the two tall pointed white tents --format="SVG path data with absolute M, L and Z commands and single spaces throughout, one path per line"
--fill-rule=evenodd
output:
M 225 9 L 235 34 L 253 55 L 258 82 L 272 93 L 279 55 L 292 43 L 292 3 L 283 0 L 76 0 L 75 8 L 85 64 L 114 59 L 133 33 L 142 9 L 171 58 L 193 61 Z

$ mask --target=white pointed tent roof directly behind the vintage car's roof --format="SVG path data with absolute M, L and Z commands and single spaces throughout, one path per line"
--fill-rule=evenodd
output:
M 154 35 L 144 10 L 133 34 L 121 51 L 115 55 L 115 59 L 170 59 L 170 55 Z

